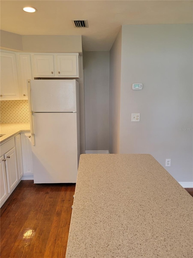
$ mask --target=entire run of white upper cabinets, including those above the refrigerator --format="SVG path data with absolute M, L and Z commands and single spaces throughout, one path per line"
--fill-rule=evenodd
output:
M 27 80 L 79 78 L 78 53 L 24 53 L 1 50 L 0 100 L 27 100 Z

